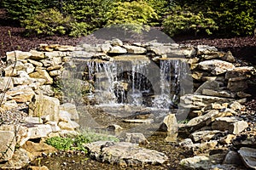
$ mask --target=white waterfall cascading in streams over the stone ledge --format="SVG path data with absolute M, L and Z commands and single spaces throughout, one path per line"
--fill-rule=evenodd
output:
M 85 62 L 87 81 L 94 84 L 90 94 L 94 94 L 96 104 L 177 107 L 187 64 L 180 59 L 164 59 L 152 68 L 152 62 L 149 59 Z

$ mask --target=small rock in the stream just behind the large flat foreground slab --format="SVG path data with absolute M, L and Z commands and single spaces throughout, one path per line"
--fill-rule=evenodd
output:
M 149 144 L 143 133 L 126 133 L 125 142 L 133 144 Z

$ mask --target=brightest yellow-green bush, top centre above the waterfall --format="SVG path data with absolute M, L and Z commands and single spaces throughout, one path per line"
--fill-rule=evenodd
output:
M 157 18 L 148 3 L 143 1 L 118 2 L 113 3 L 113 8 L 108 11 L 107 26 L 119 25 L 122 29 L 128 31 L 141 32 L 148 30 L 148 20 Z

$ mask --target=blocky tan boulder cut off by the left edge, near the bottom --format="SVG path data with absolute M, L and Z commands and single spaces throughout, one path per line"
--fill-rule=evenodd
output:
M 15 152 L 15 133 L 1 130 L 0 136 L 0 161 L 9 161 Z

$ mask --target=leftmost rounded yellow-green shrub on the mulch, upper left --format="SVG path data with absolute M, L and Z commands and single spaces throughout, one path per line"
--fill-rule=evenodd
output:
M 53 36 L 66 34 L 70 22 L 70 17 L 64 17 L 58 10 L 50 8 L 22 20 L 21 25 L 26 27 L 29 34 Z

